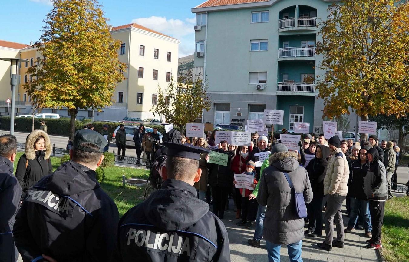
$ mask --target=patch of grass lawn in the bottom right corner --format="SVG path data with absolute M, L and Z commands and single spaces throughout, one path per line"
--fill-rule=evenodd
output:
M 386 202 L 382 246 L 388 262 L 409 261 L 409 197 L 394 197 Z

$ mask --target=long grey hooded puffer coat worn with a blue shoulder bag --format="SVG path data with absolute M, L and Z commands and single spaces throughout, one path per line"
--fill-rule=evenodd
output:
M 295 199 L 283 172 L 287 172 L 296 192 L 303 192 L 304 201 L 312 200 L 312 189 L 306 169 L 301 167 L 294 152 L 279 152 L 269 158 L 263 170 L 257 201 L 267 205 L 263 237 L 274 244 L 291 244 L 304 238 L 304 219 L 298 218 Z

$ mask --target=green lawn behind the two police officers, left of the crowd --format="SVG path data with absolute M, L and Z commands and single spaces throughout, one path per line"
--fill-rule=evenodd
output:
M 24 152 L 18 152 L 16 161 L 14 161 L 14 170 L 16 170 L 18 159 Z M 57 169 L 60 166 L 61 158 L 51 157 L 51 163 L 53 169 Z M 140 203 L 141 200 L 138 197 L 143 196 L 144 187 L 136 187 L 126 185 L 122 186 L 122 175 L 125 174 L 126 178 L 148 178 L 149 171 L 146 169 L 136 169 L 130 167 L 104 167 L 105 179 L 101 183 L 103 190 L 114 200 L 117 204 L 119 217 L 122 217 L 126 211 Z

